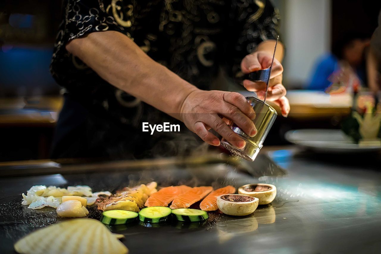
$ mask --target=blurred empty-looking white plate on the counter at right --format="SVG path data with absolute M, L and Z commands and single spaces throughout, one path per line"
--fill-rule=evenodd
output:
M 359 153 L 377 151 L 381 146 L 360 147 L 341 130 L 304 129 L 290 130 L 285 134 L 287 141 L 312 148 L 319 152 Z

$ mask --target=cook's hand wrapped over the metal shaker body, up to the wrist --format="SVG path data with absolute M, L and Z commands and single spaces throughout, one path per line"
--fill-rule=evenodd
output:
M 235 92 L 195 90 L 186 97 L 181 107 L 181 121 L 186 127 L 214 146 L 219 146 L 220 141 L 209 132 L 210 129 L 237 148 L 243 148 L 245 141 L 227 123 L 233 121 L 253 137 L 257 133 L 254 118 L 255 112 L 245 96 Z

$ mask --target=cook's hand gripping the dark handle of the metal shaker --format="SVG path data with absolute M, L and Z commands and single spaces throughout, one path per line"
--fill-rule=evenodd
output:
M 248 74 L 253 71 L 259 71 L 270 68 L 272 54 L 267 51 L 256 51 L 250 55 L 245 56 L 241 62 L 241 70 L 243 73 Z M 287 117 L 290 112 L 290 103 L 286 98 L 286 88 L 282 85 L 283 66 L 274 59 L 271 69 L 271 77 L 269 82 L 269 90 L 267 92 L 266 100 L 273 101 L 282 110 L 282 115 Z M 266 83 L 252 82 L 250 80 L 243 80 L 243 86 L 251 92 L 257 92 L 260 99 L 264 99 L 266 93 Z

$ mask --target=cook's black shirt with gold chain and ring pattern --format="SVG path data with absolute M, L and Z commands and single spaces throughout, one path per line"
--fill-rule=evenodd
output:
M 63 7 L 51 62 L 53 77 L 67 91 L 55 140 L 61 152 L 56 157 L 91 156 L 99 150 L 99 156 L 152 156 L 144 147 L 136 152 L 136 145 L 176 139 L 164 133 L 156 138 L 142 135 L 142 122 L 175 120 L 99 77 L 66 51 L 70 40 L 91 32 L 121 32 L 152 59 L 208 90 L 220 67 L 234 77 L 243 57 L 279 34 L 280 17 L 268 0 L 65 0 Z M 72 116 L 79 112 L 74 104 L 82 107 L 83 119 Z M 86 133 L 81 136 L 79 128 Z M 74 142 L 78 136 L 80 144 Z M 92 152 L 83 153 L 86 150 Z

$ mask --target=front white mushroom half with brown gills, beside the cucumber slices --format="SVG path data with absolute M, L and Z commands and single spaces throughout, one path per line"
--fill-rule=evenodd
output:
M 258 198 L 239 194 L 224 194 L 217 197 L 217 206 L 224 214 L 245 216 L 258 207 Z

